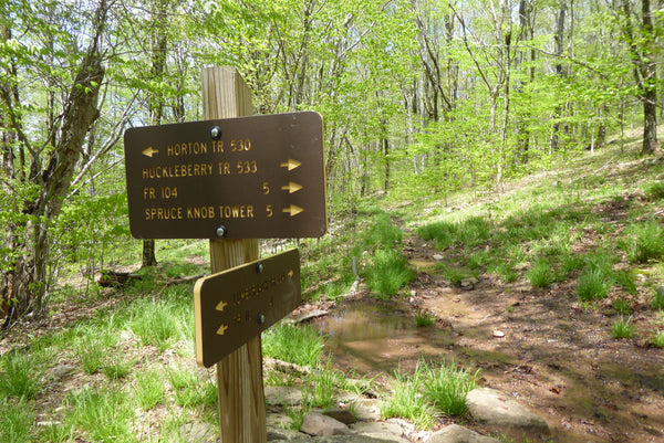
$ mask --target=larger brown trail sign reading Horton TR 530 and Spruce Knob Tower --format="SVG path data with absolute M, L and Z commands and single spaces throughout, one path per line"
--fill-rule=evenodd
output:
M 323 123 L 315 112 L 136 127 L 124 140 L 137 239 L 325 233 Z

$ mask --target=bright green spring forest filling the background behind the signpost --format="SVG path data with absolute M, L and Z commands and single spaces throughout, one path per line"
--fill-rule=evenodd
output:
M 365 198 L 499 190 L 635 127 L 656 152 L 660 7 L 3 0 L 6 324 L 46 313 L 65 270 L 156 263 L 128 234 L 122 136 L 200 120 L 204 66 L 235 66 L 257 114 L 323 116 L 333 225 Z

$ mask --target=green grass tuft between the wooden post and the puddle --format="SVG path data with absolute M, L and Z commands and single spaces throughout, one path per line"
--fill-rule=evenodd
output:
M 322 337 L 309 326 L 279 324 L 262 335 L 262 351 L 266 357 L 300 366 L 317 366 L 323 347 Z

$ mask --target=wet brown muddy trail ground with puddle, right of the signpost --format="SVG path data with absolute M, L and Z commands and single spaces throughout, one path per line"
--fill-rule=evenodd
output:
M 371 377 L 412 369 L 421 358 L 454 360 L 480 369 L 480 384 L 546 420 L 551 434 L 544 441 L 664 442 L 664 349 L 649 346 L 657 314 L 645 300 L 634 303 L 633 338 L 614 339 L 618 314 L 610 302 L 583 307 L 573 282 L 533 288 L 523 279 L 506 284 L 484 275 L 469 287 L 453 287 L 437 275 L 437 252 L 422 240 L 407 240 L 405 253 L 418 277 L 402 304 L 367 310 L 382 304 L 359 293 L 318 320 L 342 369 Z M 436 324 L 414 326 L 417 310 L 434 315 Z M 490 432 L 513 442 L 542 441 Z

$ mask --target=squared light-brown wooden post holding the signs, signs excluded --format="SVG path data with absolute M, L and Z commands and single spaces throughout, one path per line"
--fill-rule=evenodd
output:
M 201 74 L 206 120 L 253 114 L 251 95 L 232 67 L 206 67 Z M 211 273 L 258 259 L 258 240 L 210 240 Z M 266 443 L 266 402 L 260 335 L 217 363 L 222 443 Z

